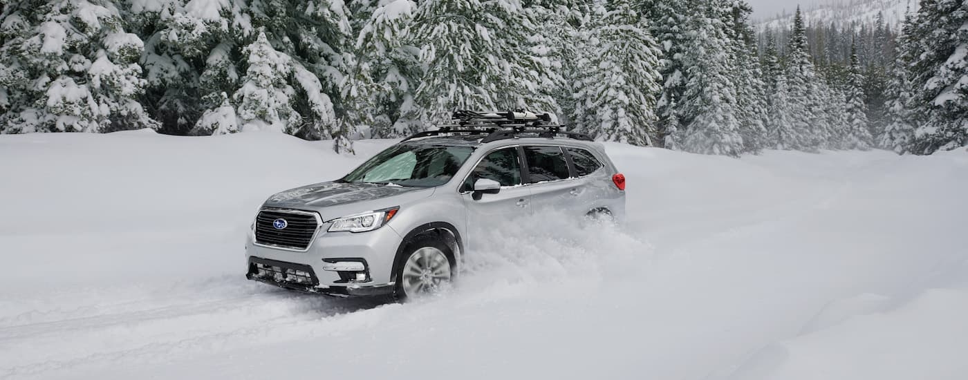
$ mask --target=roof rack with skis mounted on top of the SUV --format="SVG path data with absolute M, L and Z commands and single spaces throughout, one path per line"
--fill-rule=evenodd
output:
M 594 140 L 586 133 L 562 131 L 564 126 L 551 124 L 551 114 L 549 113 L 539 115 L 523 110 L 506 112 L 457 110 L 454 111 L 451 119 L 454 124 L 441 125 L 436 131 L 413 134 L 405 138 L 404 141 L 419 137 L 456 133 L 487 134 L 481 139 L 483 143 L 516 137 L 555 138 L 555 136 L 563 136 L 576 140 Z

